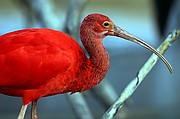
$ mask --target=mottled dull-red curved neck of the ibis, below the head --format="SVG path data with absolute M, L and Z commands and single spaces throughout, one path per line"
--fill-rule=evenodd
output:
M 85 79 L 88 85 L 86 85 L 81 91 L 97 85 L 106 76 L 110 66 L 108 52 L 102 44 L 102 38 L 86 38 L 87 39 L 82 40 L 82 43 L 89 54 L 90 67 L 86 72 L 90 75 Z

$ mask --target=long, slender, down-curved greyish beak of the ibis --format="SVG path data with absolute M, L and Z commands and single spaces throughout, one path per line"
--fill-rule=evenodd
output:
M 151 52 L 153 52 L 154 54 L 156 54 L 167 66 L 167 68 L 169 69 L 170 73 L 173 74 L 173 68 L 170 65 L 170 63 L 166 60 L 166 58 L 161 55 L 156 49 L 154 49 L 152 46 L 150 46 L 149 44 L 147 44 L 145 41 L 141 40 L 138 37 L 133 36 L 132 34 L 128 33 L 127 31 L 119 28 L 118 26 L 114 26 L 113 28 L 113 32 L 114 32 L 114 36 L 117 37 L 121 37 L 124 38 L 126 40 L 132 41 L 136 44 L 139 44 L 143 47 L 145 47 L 146 49 L 150 50 Z

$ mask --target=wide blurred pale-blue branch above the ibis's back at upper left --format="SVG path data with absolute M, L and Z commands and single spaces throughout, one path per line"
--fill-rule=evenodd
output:
M 24 7 L 26 27 L 32 27 L 33 20 L 38 21 L 41 27 L 59 29 L 59 18 L 55 14 L 53 0 L 18 0 Z

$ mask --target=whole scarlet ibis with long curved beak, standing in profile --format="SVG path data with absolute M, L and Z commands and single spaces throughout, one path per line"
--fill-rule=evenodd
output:
M 80 38 L 89 58 L 73 38 L 52 29 L 28 28 L 0 36 L 0 93 L 22 97 L 22 112 L 33 102 L 32 118 L 38 118 L 39 98 L 82 92 L 105 77 L 110 62 L 102 39 L 108 35 L 149 49 L 173 73 L 168 61 L 152 46 L 116 26 L 107 16 L 90 14 L 80 26 Z

